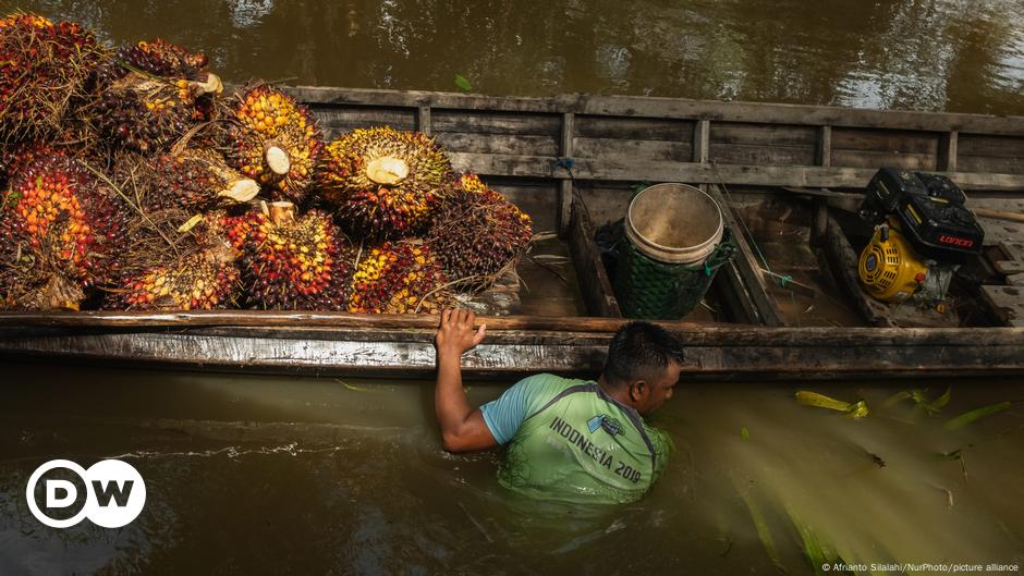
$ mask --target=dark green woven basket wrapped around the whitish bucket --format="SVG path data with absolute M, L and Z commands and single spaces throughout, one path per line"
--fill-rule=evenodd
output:
M 619 306 L 627 318 L 651 320 L 678 320 L 690 314 L 704 298 L 718 269 L 737 252 L 729 226 L 715 250 L 695 265 L 659 262 L 625 237 L 620 246 L 614 285 Z

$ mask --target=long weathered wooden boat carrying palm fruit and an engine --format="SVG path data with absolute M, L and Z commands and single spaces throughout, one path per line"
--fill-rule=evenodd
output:
M 739 257 L 705 306 L 665 324 L 692 378 L 1024 373 L 1024 118 L 665 98 L 291 88 L 333 137 L 420 130 L 552 231 L 496 298 L 472 376 L 593 373 L 623 320 L 595 244 L 641 183 L 700 185 L 728 207 Z M 950 175 L 986 230 L 964 312 L 900 309 L 855 279 L 850 205 L 878 167 Z M 987 212 L 991 213 L 991 212 Z M 852 243 L 853 242 L 853 243 Z M 517 286 L 517 287 L 516 287 Z M 501 295 L 499 295 L 501 296 Z M 0 314 L 8 359 L 428 376 L 437 319 L 340 312 Z

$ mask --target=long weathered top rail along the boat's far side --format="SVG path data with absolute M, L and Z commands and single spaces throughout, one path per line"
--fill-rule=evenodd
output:
M 592 115 L 698 119 L 796 125 L 861 126 L 926 132 L 1024 135 L 1024 118 L 862 110 L 801 105 L 721 102 L 636 96 L 563 95 L 554 98 L 493 97 L 455 93 L 397 91 L 302 86 L 287 88 L 303 102 L 325 105 L 461 108 Z

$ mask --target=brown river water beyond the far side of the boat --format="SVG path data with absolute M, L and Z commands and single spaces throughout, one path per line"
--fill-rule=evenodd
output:
M 25 0 L 229 79 L 1024 114 L 1020 0 Z

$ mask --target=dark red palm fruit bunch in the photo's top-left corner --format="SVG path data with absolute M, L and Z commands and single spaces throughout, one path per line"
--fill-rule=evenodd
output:
M 76 23 L 31 13 L 0 20 L 0 140 L 57 132 L 106 58 L 107 49 Z

